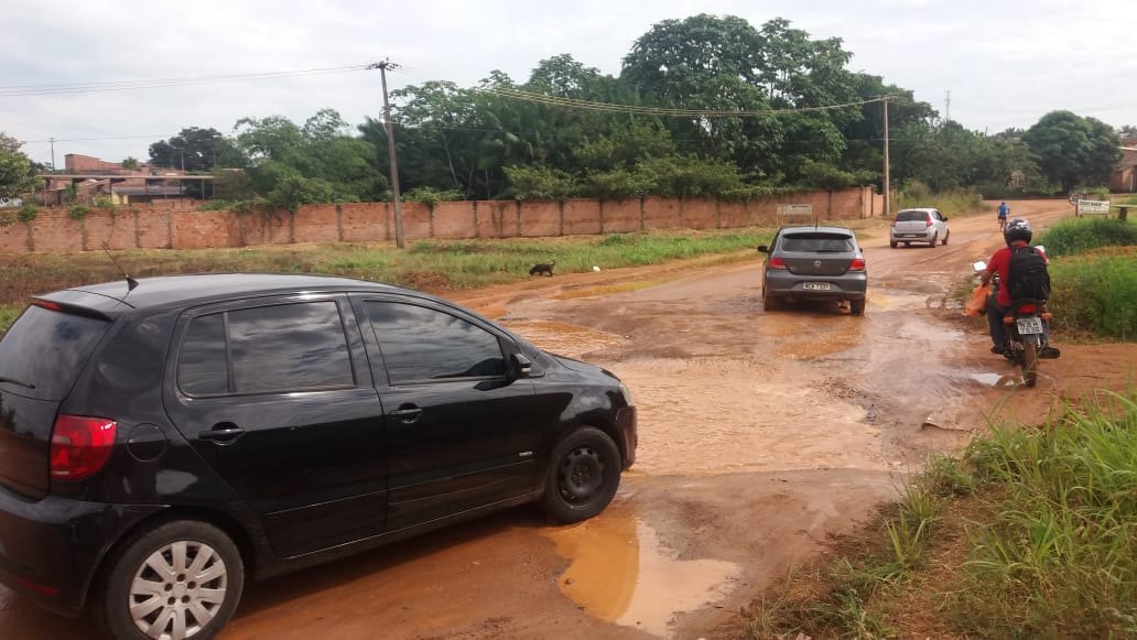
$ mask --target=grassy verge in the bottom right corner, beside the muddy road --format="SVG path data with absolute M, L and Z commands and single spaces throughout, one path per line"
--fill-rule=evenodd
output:
M 835 541 L 729 638 L 1132 638 L 1137 390 L 993 425 Z

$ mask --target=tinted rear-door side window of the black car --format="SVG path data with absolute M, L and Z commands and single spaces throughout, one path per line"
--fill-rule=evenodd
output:
M 354 387 L 339 307 L 299 302 L 193 318 L 177 383 L 194 396 Z

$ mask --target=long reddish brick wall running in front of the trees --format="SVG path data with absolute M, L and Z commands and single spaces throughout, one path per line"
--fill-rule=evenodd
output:
M 748 202 L 674 198 L 514 202 L 479 200 L 402 202 L 404 239 L 537 238 L 622 233 L 656 228 L 735 228 L 777 225 L 778 205 L 811 205 L 814 218 L 850 219 L 880 215 L 881 197 L 871 189 L 796 193 Z M 813 219 L 813 218 L 811 218 Z M 806 221 L 792 221 L 806 222 Z M 388 202 L 307 205 L 296 214 L 197 211 L 184 200 L 114 210 L 93 209 L 81 221 L 63 207 L 41 209 L 32 223 L 0 226 L 0 250 L 78 251 L 111 249 L 205 249 L 292 242 L 395 240 L 395 211 Z

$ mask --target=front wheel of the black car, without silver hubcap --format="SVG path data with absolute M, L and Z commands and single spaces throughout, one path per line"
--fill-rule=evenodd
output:
M 620 450 L 607 433 L 582 426 L 553 450 L 545 474 L 545 510 L 562 523 L 604 510 L 620 487 Z

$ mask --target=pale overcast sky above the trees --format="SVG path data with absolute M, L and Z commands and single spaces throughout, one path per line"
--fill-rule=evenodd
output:
M 186 127 L 302 125 L 323 108 L 379 119 L 380 72 L 348 69 L 383 60 L 399 66 L 391 91 L 472 88 L 495 69 L 521 83 L 562 53 L 619 75 L 654 24 L 703 13 L 839 38 L 850 70 L 970 130 L 1028 128 L 1059 109 L 1120 127 L 1137 125 L 1132 11 L 1132 0 L 3 0 L 0 132 L 33 160 L 50 165 L 53 151 L 59 168 L 66 153 L 144 161 Z M 292 73 L 313 69 L 333 70 Z M 218 80 L 255 74 L 268 75 Z M 201 82 L 123 84 L 174 78 Z

